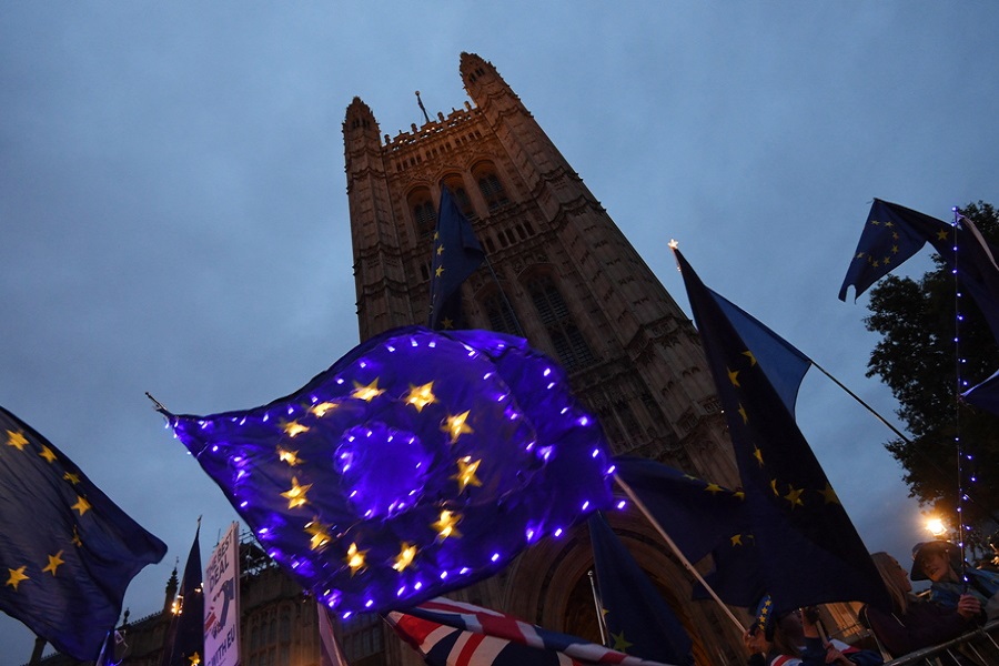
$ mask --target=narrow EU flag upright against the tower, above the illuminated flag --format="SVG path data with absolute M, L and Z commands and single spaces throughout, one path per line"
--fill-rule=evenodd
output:
M 431 275 L 431 329 L 462 329 L 461 286 L 482 264 L 485 253 L 472 224 L 447 188 L 441 189 L 441 210 L 434 232 Z

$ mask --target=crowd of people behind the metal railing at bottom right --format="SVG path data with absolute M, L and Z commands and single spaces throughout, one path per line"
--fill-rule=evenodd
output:
M 818 630 L 814 608 L 775 617 L 769 597 L 764 597 L 743 636 L 749 666 L 877 666 L 999 619 L 999 533 L 990 546 L 992 558 L 978 567 L 963 562 L 960 548 L 947 541 L 916 544 L 910 571 L 888 553 L 872 554 L 891 599 L 890 608 L 866 605 L 860 610 L 877 650 L 827 639 Z M 929 591 L 914 595 L 911 581 L 929 581 Z

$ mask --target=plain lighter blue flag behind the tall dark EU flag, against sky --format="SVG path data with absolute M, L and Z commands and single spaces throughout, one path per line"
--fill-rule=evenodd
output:
M 798 389 L 801 387 L 805 373 L 811 367 L 811 359 L 725 296 L 709 289 L 707 292 L 746 343 L 747 353 L 753 355 L 754 362 L 759 363 L 784 406 L 794 414 Z

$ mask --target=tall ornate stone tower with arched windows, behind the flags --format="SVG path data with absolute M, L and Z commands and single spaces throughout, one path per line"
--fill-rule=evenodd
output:
M 522 334 L 568 371 L 614 454 L 738 484 L 697 334 L 496 68 L 461 57 L 472 102 L 395 138 L 355 98 L 343 123 L 361 339 L 425 324 L 432 235 L 448 188 L 486 251 L 463 285 L 472 327 Z M 695 638 L 698 663 L 743 658 L 737 632 L 689 602 L 690 576 L 637 514 L 612 524 Z M 548 628 L 598 640 L 585 526 L 472 591 Z

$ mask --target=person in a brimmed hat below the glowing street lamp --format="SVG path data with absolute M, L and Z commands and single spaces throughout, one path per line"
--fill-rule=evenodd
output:
M 931 541 L 912 547 L 912 581 L 932 581 L 930 599 L 956 608 L 962 594 L 978 599 L 988 619 L 999 617 L 999 574 L 963 567 L 968 583 L 961 581 L 960 548 L 946 541 Z

